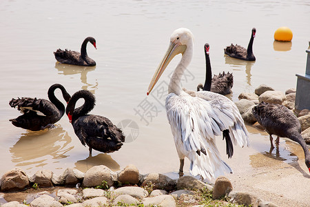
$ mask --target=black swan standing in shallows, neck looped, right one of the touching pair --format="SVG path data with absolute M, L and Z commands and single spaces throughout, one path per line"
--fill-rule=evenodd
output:
M 85 102 L 75 108 L 79 99 L 84 99 Z M 65 112 L 83 146 L 89 146 L 90 155 L 92 149 L 107 153 L 117 151 L 123 146 L 125 136 L 109 119 L 99 115 L 87 115 L 94 108 L 95 101 L 92 92 L 79 90 L 72 95 Z

